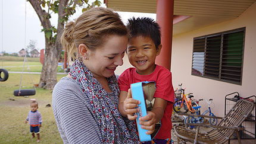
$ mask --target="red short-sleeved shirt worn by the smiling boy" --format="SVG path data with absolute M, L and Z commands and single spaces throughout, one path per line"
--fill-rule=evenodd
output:
M 154 81 L 156 91 L 154 97 L 163 98 L 167 101 L 164 116 L 161 119 L 161 128 L 155 139 L 171 138 L 171 113 L 174 103 L 174 89 L 171 81 L 171 72 L 163 66 L 156 65 L 154 72 L 149 75 L 139 75 L 135 68 L 126 69 L 118 78 L 120 91 L 128 91 L 130 84 L 141 81 Z

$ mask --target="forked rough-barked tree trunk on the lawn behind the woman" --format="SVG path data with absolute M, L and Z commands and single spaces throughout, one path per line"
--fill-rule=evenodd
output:
M 64 7 L 67 5 L 68 0 L 60 0 L 60 5 L 58 7 L 58 27 L 57 27 L 57 39 L 52 42 L 52 36 L 50 39 L 46 37 L 45 31 L 45 55 L 43 59 L 43 68 L 40 76 L 39 86 L 40 88 L 53 89 L 55 84 L 57 84 L 57 67 L 58 60 L 61 56 L 61 50 L 63 47 L 60 43 L 61 32 L 64 29 L 64 23 L 60 23 L 60 18 L 63 17 Z M 41 1 L 29 0 L 32 7 L 35 9 L 36 14 L 38 14 L 39 20 L 43 28 L 51 28 L 51 21 L 46 18 L 49 15 L 40 7 Z

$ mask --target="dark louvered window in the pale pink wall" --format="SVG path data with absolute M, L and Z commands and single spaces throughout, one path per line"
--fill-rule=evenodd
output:
M 192 75 L 242 85 L 245 27 L 193 39 Z

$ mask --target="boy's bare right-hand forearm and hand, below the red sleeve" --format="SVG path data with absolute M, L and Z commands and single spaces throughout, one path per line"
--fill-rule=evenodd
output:
M 155 123 L 158 123 L 163 116 L 166 109 L 167 101 L 163 98 L 155 98 L 155 102 L 151 111 L 147 111 L 146 116 L 139 118 L 139 124 L 142 129 L 148 130 L 146 134 L 151 134 L 155 130 Z

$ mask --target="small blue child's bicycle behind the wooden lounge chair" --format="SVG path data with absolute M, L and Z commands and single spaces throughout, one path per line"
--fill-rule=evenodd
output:
M 200 99 L 199 101 L 202 101 L 202 100 L 205 100 L 206 103 L 208 104 L 208 109 L 204 111 L 204 113 L 202 113 L 202 115 L 205 115 L 207 113 L 209 113 L 209 116 L 212 116 L 212 117 L 215 117 L 214 114 L 211 112 L 211 107 L 210 107 L 210 104 L 213 103 L 213 99 L 210 99 L 209 101 L 207 101 L 206 99 Z M 201 106 L 199 107 L 193 107 L 194 109 L 200 109 Z M 198 113 L 196 113 L 198 114 Z M 200 114 L 198 114 L 200 115 Z M 203 123 L 204 122 L 204 117 L 193 117 L 193 116 L 189 116 L 185 118 L 184 120 L 184 123 L 187 124 L 187 123 Z M 213 126 L 216 126 L 218 120 L 215 119 L 215 118 L 210 118 L 209 120 L 209 123 Z M 189 126 L 191 128 L 193 128 L 194 126 Z

